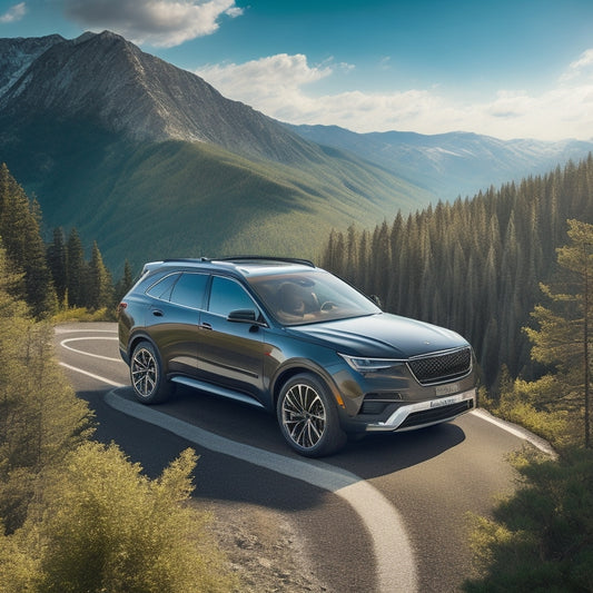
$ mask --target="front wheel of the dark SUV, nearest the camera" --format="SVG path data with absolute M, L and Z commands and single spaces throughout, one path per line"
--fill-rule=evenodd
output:
M 284 438 L 300 455 L 329 455 L 346 443 L 336 403 L 326 385 L 313 374 L 303 373 L 286 382 L 276 413 Z

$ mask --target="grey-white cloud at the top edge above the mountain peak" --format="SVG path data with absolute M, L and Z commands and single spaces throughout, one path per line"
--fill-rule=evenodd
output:
M 223 16 L 236 18 L 235 0 L 62 0 L 67 17 L 110 29 L 136 43 L 172 47 L 214 33 Z

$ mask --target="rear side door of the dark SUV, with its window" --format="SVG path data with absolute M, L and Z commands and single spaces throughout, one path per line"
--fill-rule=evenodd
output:
M 149 307 L 147 325 L 169 373 L 196 376 L 200 313 L 209 276 L 182 273 Z

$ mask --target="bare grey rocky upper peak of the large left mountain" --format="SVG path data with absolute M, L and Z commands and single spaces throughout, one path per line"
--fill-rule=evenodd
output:
M 136 141 L 205 141 L 281 161 L 299 158 L 308 144 L 110 31 L 53 39 L 45 51 L 30 55 L 18 80 L 12 76 L 10 83 L 4 76 L 0 110 L 11 119 L 90 120 Z

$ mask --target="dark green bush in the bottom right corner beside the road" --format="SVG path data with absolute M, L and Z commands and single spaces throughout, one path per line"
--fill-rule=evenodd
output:
M 559 459 L 522 454 L 516 493 L 492 520 L 473 517 L 481 574 L 477 592 L 593 591 L 593 452 L 567 449 Z

